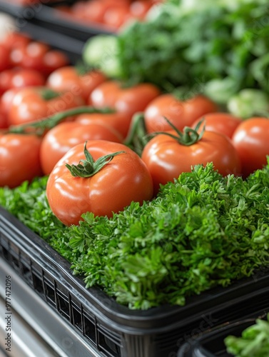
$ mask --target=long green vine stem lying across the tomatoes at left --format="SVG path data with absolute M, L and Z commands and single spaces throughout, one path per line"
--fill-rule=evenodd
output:
M 68 109 L 67 111 L 61 111 L 52 116 L 49 116 L 45 119 L 41 119 L 38 121 L 33 121 L 29 124 L 10 126 L 6 133 L 13 134 L 36 134 L 41 136 L 44 134 L 46 130 L 54 128 L 57 124 L 59 124 L 64 119 L 68 118 L 68 116 L 75 116 L 78 114 L 93 114 L 93 113 L 101 113 L 108 114 L 114 113 L 113 109 L 96 109 L 93 106 L 79 106 L 73 109 Z

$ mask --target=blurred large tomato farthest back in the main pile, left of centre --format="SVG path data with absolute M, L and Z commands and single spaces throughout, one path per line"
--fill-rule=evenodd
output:
M 71 91 L 87 100 L 93 89 L 104 81 L 106 81 L 106 76 L 100 71 L 79 74 L 75 67 L 64 66 L 52 72 L 46 84 L 54 91 Z

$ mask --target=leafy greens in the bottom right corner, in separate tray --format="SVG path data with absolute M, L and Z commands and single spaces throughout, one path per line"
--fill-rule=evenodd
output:
M 241 337 L 228 336 L 225 346 L 228 353 L 236 357 L 268 357 L 269 356 L 269 313 L 267 320 L 258 318 L 255 324 L 245 328 Z

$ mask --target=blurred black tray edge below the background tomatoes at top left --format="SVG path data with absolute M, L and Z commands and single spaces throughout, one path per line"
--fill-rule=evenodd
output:
M 72 4 L 75 1 L 61 1 L 61 4 Z M 83 42 L 98 34 L 114 34 L 113 31 L 100 24 L 88 24 L 79 20 L 72 19 L 71 16 L 64 16 L 61 11 L 57 10 L 56 4 L 42 4 L 40 9 L 35 11 L 31 17 L 33 24 L 45 29 L 51 29 L 58 34 L 65 34 L 74 39 L 79 39 Z

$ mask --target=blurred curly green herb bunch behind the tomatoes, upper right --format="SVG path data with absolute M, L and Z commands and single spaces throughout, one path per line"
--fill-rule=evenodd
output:
M 268 93 L 268 11 L 265 0 L 165 2 L 118 35 L 121 76 L 191 91 L 225 79 L 230 95 L 244 88 Z

